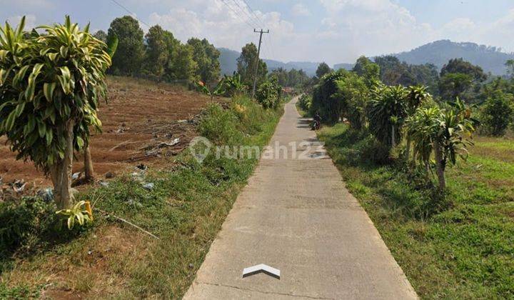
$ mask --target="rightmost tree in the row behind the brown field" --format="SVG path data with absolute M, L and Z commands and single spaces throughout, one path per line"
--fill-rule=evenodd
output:
M 189 39 L 188 45 L 193 49 L 193 60 L 198 65 L 197 74 L 206 84 L 218 81 L 220 76 L 220 52 L 206 39 Z

